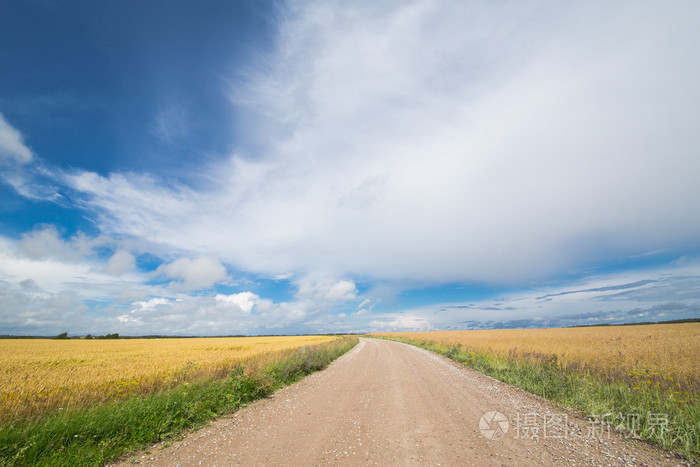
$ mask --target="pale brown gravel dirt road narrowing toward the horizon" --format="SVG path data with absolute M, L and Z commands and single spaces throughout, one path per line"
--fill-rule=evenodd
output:
M 685 465 L 430 352 L 374 339 L 361 339 L 325 371 L 126 462 L 134 459 L 167 466 Z

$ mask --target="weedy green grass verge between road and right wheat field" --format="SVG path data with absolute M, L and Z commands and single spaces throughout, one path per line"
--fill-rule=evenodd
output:
M 377 336 L 372 336 L 377 337 Z M 500 356 L 461 345 L 397 337 L 476 371 L 572 407 L 665 449 L 700 463 L 699 395 L 674 395 L 657 385 L 601 380 L 560 366 L 556 356 Z

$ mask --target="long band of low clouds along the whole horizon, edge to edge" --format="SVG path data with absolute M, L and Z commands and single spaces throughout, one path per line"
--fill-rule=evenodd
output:
M 225 335 L 479 329 L 655 321 L 697 317 L 700 312 L 700 263 L 691 257 L 653 270 L 389 312 L 374 310 L 376 299 L 359 295 L 346 280 L 300 282 L 296 298 L 288 302 L 250 291 L 188 295 L 147 285 L 147 274 L 107 275 L 108 259 L 32 258 L 20 243 L 0 237 L 3 332 Z

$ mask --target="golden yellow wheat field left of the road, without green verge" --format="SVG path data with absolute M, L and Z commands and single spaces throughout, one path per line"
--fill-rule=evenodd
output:
M 0 340 L 0 419 L 150 394 L 257 368 L 328 336 Z

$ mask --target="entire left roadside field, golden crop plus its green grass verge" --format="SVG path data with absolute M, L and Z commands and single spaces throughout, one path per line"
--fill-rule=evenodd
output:
M 6 376 L 1 384 L 21 398 L 5 398 L 0 466 L 103 465 L 321 370 L 357 341 L 4 341 L 2 358 L 14 364 L 2 371 L 15 379 Z M 61 406 L 49 410 L 56 404 Z

